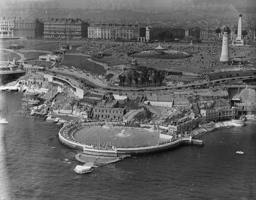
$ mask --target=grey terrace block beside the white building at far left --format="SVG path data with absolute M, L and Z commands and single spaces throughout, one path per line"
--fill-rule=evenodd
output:
M 14 20 L 13 32 L 15 37 L 40 38 L 44 33 L 44 22 L 20 17 Z

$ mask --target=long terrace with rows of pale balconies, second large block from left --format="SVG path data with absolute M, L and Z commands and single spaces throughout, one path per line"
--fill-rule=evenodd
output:
M 53 19 L 44 22 L 45 38 L 87 38 L 89 23 L 81 19 Z

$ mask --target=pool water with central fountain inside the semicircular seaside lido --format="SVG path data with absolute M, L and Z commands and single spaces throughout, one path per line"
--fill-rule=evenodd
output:
M 148 128 L 133 128 L 125 126 L 93 125 L 80 127 L 73 130 L 73 139 L 86 145 L 94 145 L 95 148 L 108 146 L 128 148 L 134 146 L 154 146 L 159 142 L 167 142 L 168 139 L 160 138 L 161 131 Z

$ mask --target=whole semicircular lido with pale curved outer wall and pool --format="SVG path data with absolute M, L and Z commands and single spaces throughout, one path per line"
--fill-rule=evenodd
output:
M 112 157 L 166 151 L 184 144 L 203 145 L 203 141 L 191 136 L 174 138 L 163 134 L 152 125 L 151 128 L 111 127 L 96 123 L 65 125 L 59 131 L 59 139 L 70 148 L 83 150 L 84 154 Z

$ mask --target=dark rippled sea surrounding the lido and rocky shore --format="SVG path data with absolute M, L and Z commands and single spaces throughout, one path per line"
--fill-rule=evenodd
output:
M 256 199 L 255 123 L 204 133 L 203 147 L 127 157 L 77 175 L 82 163 L 59 143 L 60 126 L 26 116 L 22 95 L 0 92 L 0 116 L 9 122 L 0 125 L 0 199 Z

